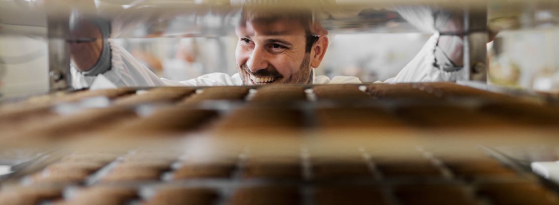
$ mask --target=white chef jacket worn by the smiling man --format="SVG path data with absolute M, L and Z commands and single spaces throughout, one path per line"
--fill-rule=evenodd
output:
M 436 82 L 456 81 L 462 75 L 458 71 L 444 71 L 435 66 L 435 48 L 439 34 L 435 33 L 425 43 L 419 53 L 400 71 L 394 78 L 387 79 L 385 83 L 404 82 Z M 109 40 L 110 41 L 110 40 Z M 243 85 L 239 73 L 229 75 L 226 73 L 210 73 L 198 78 L 173 81 L 159 78 L 151 70 L 140 64 L 123 47 L 110 42 L 111 69 L 103 73 L 116 87 L 155 87 L 155 86 L 218 86 L 218 85 Z M 314 75 L 313 84 L 348 84 L 361 83 L 361 80 L 352 76 L 337 76 L 332 79 L 325 75 Z M 74 88 L 90 87 L 97 76 L 86 76 L 72 67 L 72 85 Z

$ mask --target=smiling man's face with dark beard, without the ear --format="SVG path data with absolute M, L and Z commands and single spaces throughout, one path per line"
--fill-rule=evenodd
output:
M 311 82 L 311 54 L 305 53 L 306 33 L 301 22 L 248 21 L 236 34 L 235 59 L 243 84 Z

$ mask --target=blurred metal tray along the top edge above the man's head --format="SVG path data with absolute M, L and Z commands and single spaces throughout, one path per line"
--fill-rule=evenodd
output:
M 80 16 L 103 17 L 113 28 L 111 37 L 192 37 L 231 34 L 246 7 L 274 9 L 312 8 L 314 17 L 330 31 L 337 32 L 409 32 L 417 31 L 417 23 L 438 21 L 444 13 L 463 13 L 465 9 L 480 8 L 489 13 L 492 30 L 549 27 L 559 23 L 559 4 L 555 1 L 309 1 L 293 6 L 291 1 L 247 4 L 244 1 L 4 1 L 0 7 L 2 34 L 46 35 L 46 16 L 63 18 L 75 13 Z M 272 1 L 274 2 L 274 1 Z M 55 4 L 56 6 L 49 6 Z M 433 16 L 410 20 L 398 11 L 413 7 L 429 7 Z M 455 15 L 454 15 L 455 16 Z M 439 21 L 440 22 L 440 21 Z M 458 27 L 435 27 L 438 31 L 457 32 Z M 420 29 L 421 30 L 421 29 Z M 50 35 L 50 37 L 53 37 Z M 65 37 L 58 35 L 57 37 Z

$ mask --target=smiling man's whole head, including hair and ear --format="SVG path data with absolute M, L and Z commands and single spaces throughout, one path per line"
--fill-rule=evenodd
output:
M 262 13 L 262 12 L 260 12 Z M 236 29 L 236 64 L 243 84 L 313 82 L 328 48 L 326 35 L 311 32 L 304 13 L 252 13 Z

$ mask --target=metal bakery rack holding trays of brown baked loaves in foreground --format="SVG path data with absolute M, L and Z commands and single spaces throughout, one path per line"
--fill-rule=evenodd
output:
M 0 106 L 0 147 L 32 150 L 14 162 L 20 166 L 2 182 L 0 202 L 559 202 L 556 185 L 525 163 L 559 159 L 555 98 L 486 84 L 485 59 L 489 30 L 538 27 L 530 17 L 556 11 L 554 1 L 324 1 L 315 7 L 314 17 L 331 32 L 415 32 L 382 8 L 436 8 L 462 25 L 434 27 L 465 37 L 467 69 L 456 83 L 110 90 L 69 89 L 66 44 L 79 40 L 68 36 L 76 16 L 106 18 L 113 38 L 221 36 L 233 31 L 246 7 L 13 2 L 0 7 L 0 16 L 11 17 L 0 18 L 0 32 L 49 37 L 53 92 Z M 23 11 L 31 14 L 13 18 Z

